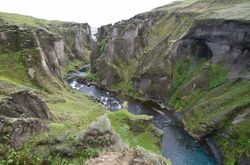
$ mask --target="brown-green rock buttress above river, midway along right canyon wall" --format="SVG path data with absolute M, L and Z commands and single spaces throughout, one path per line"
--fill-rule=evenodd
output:
M 161 100 L 171 86 L 173 64 L 166 54 L 168 44 L 169 35 L 152 50 L 145 52 L 133 76 L 133 89 L 146 98 Z

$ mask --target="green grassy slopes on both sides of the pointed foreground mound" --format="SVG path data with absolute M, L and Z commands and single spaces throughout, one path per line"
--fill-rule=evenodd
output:
M 2 147 L 3 150 L 7 150 L 7 157 L 0 161 L 0 164 L 8 164 L 7 161 L 9 161 L 9 164 L 13 162 L 38 164 L 44 159 L 51 161 L 52 164 L 82 164 L 81 162 L 94 156 L 95 152 L 99 152 L 98 150 L 86 150 L 73 158 L 51 155 L 57 148 L 73 143 L 77 133 L 86 129 L 97 117 L 107 113 L 105 108 L 83 94 L 71 90 L 65 90 L 59 94 L 48 95 L 47 93 L 42 93 L 40 95 L 46 98 L 46 102 L 56 116 L 56 120 L 48 122 L 49 131 L 32 137 L 19 150 L 13 150 L 8 146 L 0 145 L 0 149 Z M 140 123 L 140 119 L 147 118 L 146 116 L 135 117 L 124 110 L 109 113 L 109 118 L 114 130 L 131 147 L 136 148 L 140 146 L 151 152 L 160 153 L 161 138 L 155 135 L 152 126 Z M 134 125 L 134 122 L 138 125 Z M 140 126 L 139 124 L 142 125 Z M 138 127 L 142 127 L 140 132 L 137 132 Z M 37 145 L 38 142 L 50 142 L 61 136 L 66 136 L 66 141 L 62 145 Z

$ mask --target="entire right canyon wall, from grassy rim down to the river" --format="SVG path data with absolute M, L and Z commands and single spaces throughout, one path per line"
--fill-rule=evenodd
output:
M 99 28 L 99 85 L 170 104 L 225 164 L 249 153 L 250 3 L 186 0 Z

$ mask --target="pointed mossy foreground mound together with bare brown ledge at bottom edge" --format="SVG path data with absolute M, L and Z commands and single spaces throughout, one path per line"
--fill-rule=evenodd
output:
M 137 132 L 139 131 L 137 130 Z M 142 148 L 129 148 L 112 129 L 108 114 L 100 116 L 86 129 L 76 133 L 76 136 L 73 137 L 73 139 L 69 139 L 67 135 L 62 135 L 48 141 L 39 141 L 37 146 L 50 146 L 49 154 L 57 157 L 74 159 L 80 156 L 90 158 L 87 162 L 79 162 L 88 165 L 170 164 L 169 160 Z

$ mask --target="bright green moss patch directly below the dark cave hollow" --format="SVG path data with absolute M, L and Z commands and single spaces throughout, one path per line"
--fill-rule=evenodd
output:
M 168 103 L 177 111 L 185 111 L 196 105 L 212 88 L 227 82 L 228 69 L 219 64 L 210 64 L 204 58 L 197 59 L 197 55 L 190 58 L 178 59 L 173 67 Z M 196 62 L 193 62 L 194 59 Z

